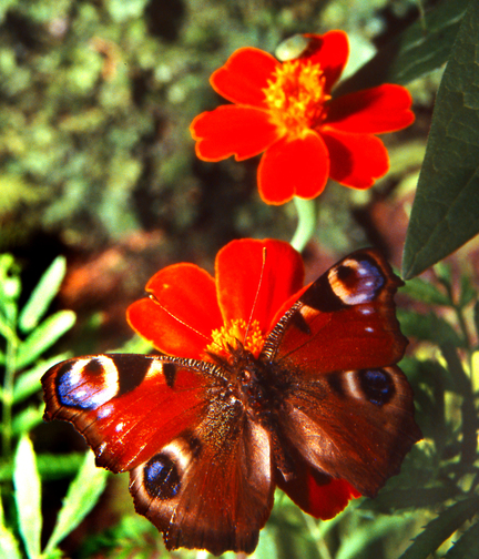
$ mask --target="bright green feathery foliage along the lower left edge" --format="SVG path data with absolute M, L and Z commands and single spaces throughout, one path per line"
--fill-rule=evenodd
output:
M 94 466 L 91 454 L 82 457 L 83 464 L 71 454 L 63 460 L 60 456 L 37 455 L 28 435 L 42 420 L 43 404 L 29 404 L 34 396 L 37 398 L 32 399 L 38 400 L 40 377 L 67 355 L 47 359 L 40 357 L 73 326 L 75 319 L 73 313 L 65 311 L 44 317 L 64 274 L 64 258 L 58 257 L 19 309 L 20 268 L 11 255 L 0 255 L 0 334 L 4 338 L 0 487 L 7 502 L 13 484 L 17 510 L 17 520 L 8 519 L 0 499 L 0 555 L 6 559 L 60 557 L 59 542 L 88 515 L 105 486 L 106 471 Z M 33 366 L 26 369 L 30 365 Z M 27 407 L 20 408 L 24 404 Z M 12 456 L 14 439 L 18 444 Z M 40 472 L 44 476 L 41 477 Z M 77 477 L 69 487 L 57 525 L 42 551 L 42 478 L 54 479 L 72 474 Z

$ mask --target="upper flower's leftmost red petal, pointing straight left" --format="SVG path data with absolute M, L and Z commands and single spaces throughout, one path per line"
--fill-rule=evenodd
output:
M 269 114 L 249 106 L 221 105 L 198 114 L 190 125 L 196 155 L 220 161 L 234 155 L 236 161 L 253 157 L 277 141 L 277 128 Z

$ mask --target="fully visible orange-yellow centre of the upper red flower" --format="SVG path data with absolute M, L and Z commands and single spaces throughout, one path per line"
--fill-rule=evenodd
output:
M 310 60 L 291 60 L 275 70 L 263 92 L 281 134 L 303 138 L 320 124 L 326 116 L 324 104 L 330 99 L 325 93 L 325 82 L 320 65 Z

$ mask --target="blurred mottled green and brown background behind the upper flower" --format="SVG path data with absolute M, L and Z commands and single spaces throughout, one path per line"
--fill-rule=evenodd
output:
M 289 241 L 295 231 L 292 204 L 261 202 L 258 159 L 195 157 L 191 121 L 224 101 L 211 73 L 240 47 L 274 53 L 294 33 L 338 28 L 350 39 L 347 75 L 434 3 L 3 0 L 0 251 L 20 258 L 27 292 L 65 255 L 61 304 L 96 313 L 106 338 L 96 350 L 106 349 L 129 335 L 124 309 L 160 267 L 191 261 L 211 270 L 232 238 Z M 367 192 L 330 184 L 320 196 L 318 243 L 305 256 L 326 262 L 313 276 L 367 244 L 400 264 L 439 78 L 409 84 L 417 121 L 381 136 L 386 177 Z

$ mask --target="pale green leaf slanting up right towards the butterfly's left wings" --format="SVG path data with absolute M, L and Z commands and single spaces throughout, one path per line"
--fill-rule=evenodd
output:
M 70 484 L 45 552 L 52 551 L 96 505 L 106 485 L 106 477 L 108 471 L 96 468 L 93 454 L 88 453 L 80 471 Z

